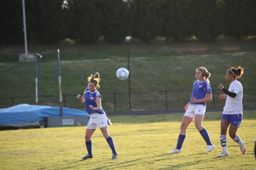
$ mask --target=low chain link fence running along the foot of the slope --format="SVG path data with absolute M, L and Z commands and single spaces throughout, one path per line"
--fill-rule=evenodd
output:
M 243 106 L 256 106 L 256 89 L 244 89 Z M 219 100 L 223 93 L 212 90 L 212 101 L 207 103 L 207 108 L 223 108 L 225 100 Z M 76 99 L 77 94 L 63 94 L 62 107 L 84 110 L 84 104 Z M 101 93 L 102 107 L 106 112 L 129 111 L 129 93 L 113 92 Z M 181 109 L 188 103 L 191 90 L 166 90 L 166 91 L 135 91 L 131 92 L 131 111 L 142 110 L 172 110 Z M 0 108 L 17 104 L 35 104 L 35 96 L 15 96 L 0 98 Z M 59 106 L 59 95 L 38 96 L 38 105 Z

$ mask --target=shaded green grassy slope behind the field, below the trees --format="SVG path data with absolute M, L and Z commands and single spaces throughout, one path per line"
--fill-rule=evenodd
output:
M 256 42 L 255 41 L 216 41 L 216 42 L 131 42 L 131 91 L 191 90 L 195 69 L 205 66 L 211 73 L 212 89 L 222 83 L 228 87 L 224 76 L 230 66 L 241 65 L 245 74 L 240 79 L 244 89 L 254 88 L 256 83 Z M 30 99 L 15 99 L 18 103 L 34 104 L 35 66 L 34 63 L 18 63 L 18 54 L 23 53 L 23 45 L 3 46 L 0 53 L 0 98 L 11 96 L 32 96 Z M 58 95 L 56 48 L 60 49 L 62 94 L 82 93 L 87 86 L 87 77 L 95 71 L 100 72 L 100 93 L 106 111 L 114 110 L 114 92 L 127 92 L 128 82 L 116 78 L 119 67 L 127 67 L 127 47 L 125 43 L 94 45 L 82 44 L 29 44 L 31 53 L 41 53 L 41 81 L 38 95 Z M 256 90 L 244 91 L 245 106 L 255 106 Z M 190 97 L 190 91 L 168 92 L 168 108 L 182 108 Z M 216 96 L 221 92 L 217 90 Z M 165 109 L 165 94 L 132 94 L 132 110 Z M 117 94 L 117 110 L 127 110 L 127 94 Z M 223 107 L 222 102 L 218 107 Z M 67 107 L 83 109 L 74 96 L 66 99 Z M 155 105 L 152 105 L 155 103 Z M 11 100 L 1 100 L 0 108 L 8 107 Z M 55 98 L 39 97 L 40 105 L 58 106 Z M 212 107 L 212 103 L 209 103 Z

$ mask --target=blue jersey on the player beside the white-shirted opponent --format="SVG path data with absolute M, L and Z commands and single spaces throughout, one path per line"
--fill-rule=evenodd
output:
M 191 95 L 191 98 L 189 100 L 189 104 L 194 104 L 194 105 L 206 105 L 206 103 L 191 103 L 192 98 L 196 99 L 204 99 L 206 98 L 206 93 L 211 94 L 211 88 L 210 88 L 210 83 L 205 81 L 200 82 L 199 80 L 194 81 L 194 86 L 193 86 L 193 92 Z

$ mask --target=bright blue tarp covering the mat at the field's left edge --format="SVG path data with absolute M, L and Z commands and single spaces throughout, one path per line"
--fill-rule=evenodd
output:
M 20 104 L 0 109 L 0 125 L 31 123 L 47 117 L 60 116 L 60 107 Z M 86 111 L 62 107 L 62 116 L 87 116 Z

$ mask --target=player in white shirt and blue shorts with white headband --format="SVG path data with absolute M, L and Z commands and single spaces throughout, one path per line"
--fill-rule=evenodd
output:
M 230 83 L 228 90 L 224 88 L 222 84 L 219 84 L 219 89 L 225 92 L 225 94 L 220 94 L 219 99 L 226 99 L 225 106 L 223 108 L 223 115 L 221 118 L 221 135 L 220 141 L 222 145 L 222 153 L 219 157 L 228 156 L 227 151 L 227 129 L 229 127 L 229 136 L 233 141 L 239 143 L 241 153 L 244 155 L 246 152 L 245 143 L 239 137 L 237 133 L 238 127 L 241 124 L 243 117 L 243 86 L 237 81 L 241 78 L 244 73 L 244 68 L 238 66 L 238 68 L 231 67 L 226 71 L 225 79 Z

